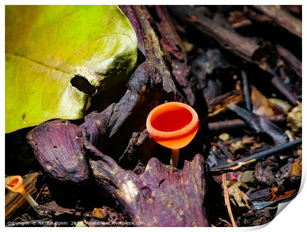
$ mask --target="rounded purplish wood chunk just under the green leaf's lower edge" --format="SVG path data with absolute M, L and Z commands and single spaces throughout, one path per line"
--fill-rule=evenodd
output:
M 82 144 L 84 134 L 81 127 L 57 119 L 34 127 L 27 139 L 40 165 L 52 178 L 79 183 L 89 178 Z

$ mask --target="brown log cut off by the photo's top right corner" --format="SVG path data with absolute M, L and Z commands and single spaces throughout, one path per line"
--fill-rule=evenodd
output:
M 302 21 L 282 10 L 280 7 L 272 5 L 254 5 L 267 17 L 271 18 L 280 27 L 285 28 L 292 34 L 302 39 Z

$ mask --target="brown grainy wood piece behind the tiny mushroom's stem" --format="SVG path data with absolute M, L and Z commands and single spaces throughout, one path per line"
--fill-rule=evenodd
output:
M 37 192 L 36 183 L 38 177 L 41 175 L 42 173 L 34 172 L 28 174 L 23 179 L 24 188 L 32 197 L 34 197 L 34 193 Z M 28 201 L 20 193 L 10 191 L 5 194 L 5 220 L 10 219 L 17 209 L 22 209 L 27 205 L 29 205 Z

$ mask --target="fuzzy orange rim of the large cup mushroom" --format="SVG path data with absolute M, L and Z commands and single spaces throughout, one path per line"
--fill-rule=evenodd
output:
M 156 111 L 160 110 L 161 108 L 164 108 L 170 105 L 176 105 L 176 106 L 183 107 L 186 110 L 188 110 L 192 115 L 192 119 L 190 123 L 184 126 L 183 128 L 179 130 L 174 130 L 174 131 L 161 131 L 161 130 L 157 130 L 153 128 L 151 124 L 151 117 L 153 116 L 153 114 L 156 113 Z M 169 139 L 169 138 L 183 137 L 184 135 L 189 134 L 192 130 L 195 129 L 198 123 L 199 123 L 199 117 L 196 111 L 191 106 L 185 103 L 181 103 L 181 102 L 167 102 L 167 103 L 158 105 L 157 107 L 153 108 L 153 110 L 149 113 L 147 117 L 146 127 L 147 127 L 147 131 L 150 133 L 151 136 L 160 138 L 160 139 L 166 139 L 166 138 Z

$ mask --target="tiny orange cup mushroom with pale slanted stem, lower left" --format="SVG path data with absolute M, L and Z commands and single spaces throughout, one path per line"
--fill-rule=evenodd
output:
M 23 180 L 21 176 L 12 176 L 7 181 L 6 187 L 12 192 L 21 193 L 24 198 L 26 198 L 26 200 L 32 205 L 32 207 L 38 212 L 38 210 L 35 208 L 36 206 L 38 206 L 38 203 L 36 203 L 32 196 L 24 189 Z

